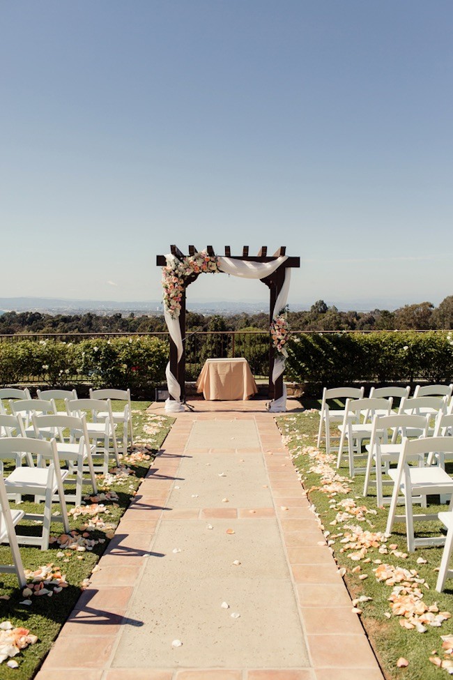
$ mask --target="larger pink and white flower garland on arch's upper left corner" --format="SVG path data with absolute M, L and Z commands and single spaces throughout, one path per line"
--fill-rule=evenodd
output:
M 208 255 L 206 250 L 181 260 L 176 257 L 167 258 L 167 265 L 162 267 L 162 288 L 164 307 L 172 319 L 177 319 L 181 312 L 185 279 L 192 274 L 217 271 L 220 271 L 217 257 Z

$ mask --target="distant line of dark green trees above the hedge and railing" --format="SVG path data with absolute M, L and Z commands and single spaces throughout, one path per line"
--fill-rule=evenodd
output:
M 435 307 L 431 302 L 404 305 L 394 311 L 341 312 L 318 300 L 309 310 L 288 312 L 291 328 L 298 331 L 393 331 L 437 330 L 453 328 L 453 295 Z M 259 314 L 202 315 L 187 312 L 187 331 L 267 330 L 269 317 Z M 0 315 L 0 334 L 17 333 L 155 333 L 166 331 L 162 315 L 105 316 L 85 314 L 45 314 L 41 312 L 5 312 Z

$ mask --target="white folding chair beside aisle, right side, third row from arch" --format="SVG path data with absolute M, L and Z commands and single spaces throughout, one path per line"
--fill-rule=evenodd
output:
M 427 436 L 429 416 L 414 416 L 407 414 L 390 414 L 389 416 L 374 416 L 369 444 L 365 448 L 368 452 L 367 471 L 365 472 L 363 495 L 367 496 L 370 485 L 376 486 L 376 504 L 381 508 L 390 503 L 390 497 L 384 497 L 383 485 L 392 485 L 393 481 L 383 480 L 383 474 L 388 473 L 390 463 L 396 463 L 402 451 L 402 441 L 399 437 L 407 437 L 407 430 L 422 430 Z M 388 430 L 392 430 L 391 441 L 388 441 Z M 374 468 L 376 480 L 371 480 Z

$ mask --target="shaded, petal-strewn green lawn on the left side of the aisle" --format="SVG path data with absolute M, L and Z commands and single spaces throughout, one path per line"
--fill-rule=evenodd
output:
M 125 509 L 130 504 L 130 500 L 140 485 L 140 482 L 150 467 L 156 451 L 162 445 L 173 418 L 167 416 L 153 416 L 146 414 L 146 409 L 150 402 L 132 402 L 132 413 L 134 423 L 134 438 L 137 452 L 139 455 L 126 458 L 125 467 L 128 467 L 132 474 L 120 474 L 114 477 L 113 482 L 110 478 L 98 478 L 98 492 L 115 492 L 113 499 L 100 499 L 104 511 L 98 513 L 98 518 L 104 524 L 102 528 L 93 531 L 86 531 L 86 515 L 74 517 L 70 514 L 70 529 L 77 531 L 77 536 L 88 534 L 85 538 L 95 543 L 92 550 L 72 550 L 61 547 L 59 543 L 54 543 L 49 550 L 41 551 L 37 547 L 20 547 L 22 561 L 25 569 L 37 570 L 40 566 L 52 564 L 56 568 L 56 573 L 66 576 L 67 587 L 59 592 L 52 592 L 52 596 L 31 596 L 31 605 L 22 604 L 27 599 L 19 589 L 15 575 L 0 573 L 0 622 L 10 621 L 13 626 L 29 629 L 32 635 L 38 637 L 36 644 L 31 644 L 23 649 L 20 654 L 14 657 L 19 667 L 11 669 L 6 664 L 8 659 L 0 664 L 0 679 L 9 680 L 30 680 L 38 670 L 40 663 L 49 651 L 52 641 L 58 635 L 63 623 L 68 618 L 72 607 L 75 605 L 82 592 L 84 580 L 89 578 L 95 564 L 100 559 L 102 552 L 109 543 L 109 527 L 116 527 Z M 58 409 L 64 409 L 63 404 L 57 402 Z M 119 410 L 123 408 L 121 402 L 116 404 Z M 119 433 L 121 436 L 121 432 Z M 122 441 L 118 439 L 118 443 Z M 143 454 L 143 455 L 140 455 Z M 148 460 L 144 456 L 148 456 Z M 137 458 L 139 460 L 137 460 Z M 6 474 L 8 470 L 6 469 Z M 90 492 L 90 487 L 86 487 Z M 91 504 L 91 500 L 87 501 Z M 68 504 L 68 511 L 74 508 L 74 504 Z M 20 506 L 26 511 L 33 511 L 38 508 L 30 501 L 24 501 Z M 42 508 L 41 508 L 42 509 Z M 58 511 L 55 505 L 53 511 Z M 52 523 L 52 536 L 60 536 L 63 525 L 60 522 Z M 40 527 L 33 522 L 21 522 L 17 527 L 17 533 L 26 534 L 39 531 Z M 114 529 L 113 529 L 114 531 Z M 112 532 L 113 533 L 113 532 Z M 84 547 L 84 545 L 82 545 Z M 8 545 L 0 546 L 0 563 L 11 564 L 11 556 Z M 53 587 L 50 587 L 53 590 Z M 0 652 L 1 653 L 1 652 Z

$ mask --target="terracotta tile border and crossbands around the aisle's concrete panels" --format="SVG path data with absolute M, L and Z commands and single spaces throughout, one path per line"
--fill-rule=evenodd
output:
M 351 599 L 298 481 L 289 452 L 282 444 L 272 414 L 264 409 L 264 402 L 194 401 L 192 404 L 197 411 L 178 414 L 160 455 L 102 556 L 100 570 L 91 577 L 91 586 L 79 598 L 36 680 L 61 680 L 62 677 L 79 680 L 81 672 L 85 680 L 330 680 L 332 677 L 383 680 L 360 620 L 351 611 Z M 295 407 L 298 406 L 295 402 Z M 153 407 L 154 412 L 159 413 L 162 405 Z M 231 437 L 224 437 L 222 446 L 198 446 L 197 431 L 202 433 L 206 427 L 213 427 L 215 432 L 215 425 L 203 425 L 213 421 L 220 425 L 234 421 Z M 250 423 L 254 423 L 259 447 L 242 448 L 235 436 L 234 423 L 238 431 L 242 427 L 250 430 Z M 190 441 L 192 448 L 188 449 Z M 187 469 L 190 458 L 197 458 L 201 464 L 202 460 L 210 460 L 204 458 L 209 455 L 212 460 L 236 460 L 235 457 L 241 455 L 245 467 L 247 460 L 252 462 L 259 456 L 266 475 L 262 481 L 266 483 L 260 485 L 262 489 L 249 504 L 241 501 L 237 507 L 233 502 L 202 507 L 203 498 L 199 501 L 196 493 L 189 494 L 185 502 L 181 501 L 182 505 L 178 504 L 176 489 L 183 486 L 180 471 Z M 170 497 L 174 507 L 168 502 Z M 172 521 L 168 522 L 169 519 Z M 132 608 L 132 605 L 137 608 L 137 593 L 144 587 L 159 591 L 160 584 L 153 581 L 153 565 L 157 571 L 158 564 L 163 564 L 158 560 L 164 557 L 164 551 L 155 552 L 155 546 L 164 541 L 168 527 L 175 527 L 177 534 L 178 527 L 189 532 L 200 527 L 201 522 L 204 527 L 212 522 L 217 528 L 217 524 L 223 527 L 222 523 L 227 520 L 231 526 L 239 522 L 237 526 L 242 527 L 245 534 L 252 531 L 252 527 L 266 532 L 266 527 L 273 527 L 277 520 L 282 551 L 279 559 L 287 564 L 287 581 L 293 591 L 302 647 L 305 644 L 308 652 L 306 662 L 286 667 L 278 664 L 276 667 L 214 667 L 212 663 L 206 665 L 204 649 L 200 647 L 199 663 L 190 667 L 178 667 L 177 663 L 174 667 L 146 667 L 146 659 L 139 661 L 142 650 L 138 649 L 137 667 L 132 664 L 121 667 L 123 659 L 129 658 L 127 653 L 134 658 L 133 650 L 125 649 L 132 639 L 130 631 L 142 633 L 143 617 Z M 247 522 L 241 524 L 243 520 Z M 261 559 L 257 554 L 256 561 L 259 563 Z M 270 602 L 270 606 L 275 607 L 275 603 Z M 197 612 L 193 615 L 196 618 Z M 263 654 L 265 652 L 263 649 Z M 238 658 L 240 656 L 239 650 Z

